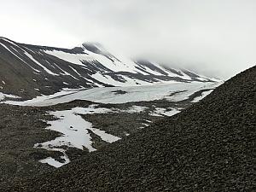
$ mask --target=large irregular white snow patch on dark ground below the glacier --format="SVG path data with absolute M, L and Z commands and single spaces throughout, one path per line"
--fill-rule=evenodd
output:
M 56 137 L 54 140 L 35 144 L 35 148 L 44 148 L 51 151 L 60 151 L 65 160 L 64 163 L 54 160 L 49 157 L 44 160 L 40 160 L 42 163 L 48 163 L 50 166 L 60 167 L 70 160 L 67 157 L 66 150 L 60 148 L 61 146 L 68 146 L 73 148 L 84 149 L 87 148 L 90 152 L 95 151 L 96 148 L 92 147 L 92 141 L 90 137 L 90 131 L 102 138 L 103 141 L 113 143 L 120 138 L 115 137 L 105 131 L 92 127 L 92 124 L 84 120 L 80 114 L 92 114 L 92 113 L 109 113 L 112 112 L 108 108 L 95 108 L 90 106 L 89 108 L 72 108 L 71 110 L 50 112 L 57 120 L 47 122 L 50 126 L 46 129 L 52 131 L 58 131 L 62 134 L 61 137 Z

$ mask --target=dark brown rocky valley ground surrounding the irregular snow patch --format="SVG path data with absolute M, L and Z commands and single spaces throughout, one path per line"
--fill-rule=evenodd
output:
M 200 93 L 201 90 L 196 92 L 195 96 L 200 96 Z M 97 129 L 125 138 L 128 134 L 135 134 L 145 125 L 163 119 L 164 116 L 149 115 L 149 113 L 154 112 L 155 108 L 188 108 L 195 96 L 182 102 L 157 100 L 122 104 L 99 103 L 97 108 L 114 108 L 121 110 L 121 112 L 87 114 L 82 115 L 82 117 L 90 121 L 93 127 Z M 43 108 L 0 104 L 0 191 L 5 189 L 4 186 L 16 180 L 55 170 L 54 166 L 42 164 L 38 160 L 52 157 L 60 161 L 63 154 L 33 147 L 36 143 L 44 143 L 61 136 L 61 133 L 45 129 L 49 126 L 47 121 L 55 120 L 53 116 L 49 115 L 49 111 L 69 110 L 75 107 L 87 108 L 91 104 L 96 103 L 73 101 Z M 125 112 L 132 106 L 143 106 L 147 109 L 140 113 Z M 99 149 L 109 144 L 102 141 L 93 132 L 90 132 L 90 137 L 92 137 L 94 148 Z M 63 148 L 66 147 L 63 146 Z M 67 155 L 71 161 L 88 153 L 86 148 L 84 150 L 79 148 L 67 149 Z

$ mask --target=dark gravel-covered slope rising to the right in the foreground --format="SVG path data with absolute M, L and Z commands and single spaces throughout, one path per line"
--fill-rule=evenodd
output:
M 3 191 L 255 191 L 256 67 L 192 108 Z

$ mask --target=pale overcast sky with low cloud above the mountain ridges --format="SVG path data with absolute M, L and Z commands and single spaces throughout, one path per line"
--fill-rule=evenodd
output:
M 98 42 L 227 79 L 256 63 L 256 0 L 0 0 L 0 36 L 67 48 Z

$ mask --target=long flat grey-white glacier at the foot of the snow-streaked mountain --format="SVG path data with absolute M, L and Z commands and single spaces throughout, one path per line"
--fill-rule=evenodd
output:
M 61 90 L 54 95 L 38 96 L 25 102 L 6 102 L 21 106 L 50 106 L 74 100 L 87 100 L 102 103 L 141 102 L 166 99 L 170 102 L 179 102 L 188 99 L 198 90 L 214 89 L 219 83 L 172 83 L 154 84 L 131 87 L 101 87 L 88 90 Z M 116 94 L 122 90 L 125 94 Z

